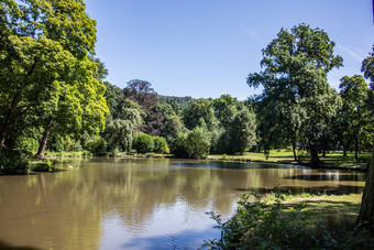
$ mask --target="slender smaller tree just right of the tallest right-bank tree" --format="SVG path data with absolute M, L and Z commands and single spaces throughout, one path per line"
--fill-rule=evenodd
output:
M 359 150 L 363 141 L 370 138 L 370 109 L 369 86 L 364 77 L 355 75 L 341 78 L 340 96 L 343 99 L 342 116 L 345 126 L 343 134 L 344 144 L 354 143 L 355 160 L 359 159 Z

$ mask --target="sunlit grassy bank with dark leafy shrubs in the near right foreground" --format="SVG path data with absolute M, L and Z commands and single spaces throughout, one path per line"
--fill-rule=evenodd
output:
M 211 249 L 373 249 L 374 238 L 359 230 L 361 195 L 245 194 L 228 221 L 210 214 L 222 230 Z

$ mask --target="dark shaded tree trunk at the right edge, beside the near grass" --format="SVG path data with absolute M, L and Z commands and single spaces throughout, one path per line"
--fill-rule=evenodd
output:
M 356 224 L 367 222 L 367 228 L 374 231 L 374 146 L 369 166 L 366 185 L 362 195 L 362 203 Z

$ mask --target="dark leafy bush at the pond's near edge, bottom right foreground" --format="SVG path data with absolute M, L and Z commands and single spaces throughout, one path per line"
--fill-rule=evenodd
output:
M 337 241 L 321 224 L 311 226 L 301 213 L 306 204 L 286 206 L 285 196 L 274 194 L 274 200 L 246 194 L 238 202 L 233 217 L 222 222 L 209 213 L 222 230 L 219 240 L 206 241 L 211 249 L 322 249 L 334 248 Z M 252 202 L 254 199 L 254 202 Z

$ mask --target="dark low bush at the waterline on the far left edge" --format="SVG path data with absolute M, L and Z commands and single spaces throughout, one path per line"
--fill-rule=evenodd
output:
M 21 150 L 3 149 L 0 154 L 1 174 L 26 174 L 31 153 Z

